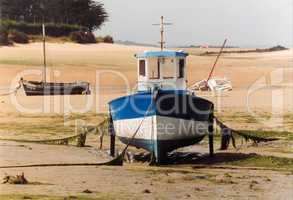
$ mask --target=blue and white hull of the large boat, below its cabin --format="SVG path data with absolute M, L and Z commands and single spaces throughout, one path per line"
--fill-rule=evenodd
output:
M 200 142 L 213 113 L 211 102 L 186 91 L 159 90 L 155 98 L 151 92 L 139 92 L 109 105 L 116 136 L 154 153 L 158 163 L 167 152 Z

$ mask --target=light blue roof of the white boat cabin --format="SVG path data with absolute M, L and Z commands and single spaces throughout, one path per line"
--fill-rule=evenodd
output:
M 186 57 L 188 53 L 184 51 L 145 51 L 143 53 L 135 54 L 136 58 L 150 58 L 150 57 Z

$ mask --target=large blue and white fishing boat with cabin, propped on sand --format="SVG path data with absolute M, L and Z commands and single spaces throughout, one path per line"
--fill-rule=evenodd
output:
M 206 135 L 211 141 L 213 131 L 213 103 L 187 89 L 188 53 L 164 50 L 164 24 L 162 18 L 161 50 L 135 55 L 137 92 L 109 102 L 111 137 L 151 152 L 156 163 L 164 162 L 168 152 L 199 143 Z M 111 139 L 112 152 L 113 144 Z

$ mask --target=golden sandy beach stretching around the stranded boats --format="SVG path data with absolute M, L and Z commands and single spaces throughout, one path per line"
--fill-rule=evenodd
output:
M 13 90 L 20 77 L 41 80 L 41 49 L 41 43 L 0 47 L 0 95 Z M 151 49 L 156 48 L 103 43 L 48 43 L 48 79 L 55 82 L 88 81 L 92 94 L 27 97 L 20 89 L 16 95 L 0 96 L 0 138 L 62 138 L 76 133 L 76 123 L 98 124 L 104 117 L 102 114 L 108 112 L 107 102 L 135 90 L 137 63 L 134 54 Z M 188 83 L 207 78 L 215 56 L 200 54 L 217 49 L 184 50 L 190 54 Z M 214 76 L 229 79 L 233 90 L 222 93 L 197 92 L 197 95 L 211 100 L 215 104 L 216 116 L 227 125 L 236 130 L 293 132 L 292 49 L 224 54 Z M 163 167 L 127 163 L 123 167 L 0 169 L 0 177 L 5 173 L 16 175 L 24 172 L 30 181 L 39 183 L 26 186 L 0 184 L 0 197 L 289 200 L 293 196 L 293 166 L 290 165 L 288 169 L 272 166 L 261 170 L 252 167 L 265 168 L 266 164 L 253 166 L 245 162 L 254 158 L 255 154 L 293 159 L 293 136 L 283 136 L 279 135 L 281 140 L 259 146 L 247 143 L 239 150 L 231 147 L 224 153 L 236 154 L 239 158 L 233 162 L 221 161 L 211 165 L 237 166 L 235 169 L 195 168 L 198 163 Z M 1 141 L 0 166 L 102 162 L 109 159 L 108 143 L 106 138 L 104 149 L 100 151 L 97 135 L 88 138 L 85 148 Z M 122 144 L 119 145 L 122 147 Z M 216 145 L 219 145 L 219 141 Z M 131 151 L 136 152 L 135 149 Z M 207 141 L 182 151 L 206 155 Z M 216 153 L 220 155 L 223 152 L 216 150 Z M 247 156 L 243 157 L 243 154 Z M 92 193 L 83 193 L 86 189 Z

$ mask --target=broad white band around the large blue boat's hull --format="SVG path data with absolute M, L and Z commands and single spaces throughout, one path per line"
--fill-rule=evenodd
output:
M 114 121 L 118 137 L 132 138 L 143 118 Z M 148 116 L 144 119 L 135 139 L 181 140 L 207 134 L 208 122 L 185 120 L 173 117 Z

